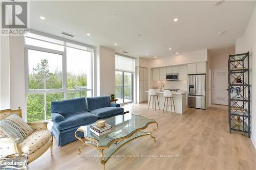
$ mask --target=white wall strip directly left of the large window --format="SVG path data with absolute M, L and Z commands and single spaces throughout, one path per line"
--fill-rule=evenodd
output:
M 10 99 L 11 108 L 22 108 L 27 119 L 25 95 L 24 36 L 10 36 Z

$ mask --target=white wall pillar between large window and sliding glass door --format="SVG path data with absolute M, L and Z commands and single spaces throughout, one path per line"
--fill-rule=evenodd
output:
M 115 94 L 115 50 L 97 47 L 97 95 Z

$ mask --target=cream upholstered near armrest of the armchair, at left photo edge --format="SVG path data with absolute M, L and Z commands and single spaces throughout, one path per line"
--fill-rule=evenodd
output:
M 0 139 L 0 153 L 1 157 L 11 155 L 11 154 L 21 154 L 22 151 L 20 151 L 18 147 L 20 139 L 19 138 L 1 138 Z

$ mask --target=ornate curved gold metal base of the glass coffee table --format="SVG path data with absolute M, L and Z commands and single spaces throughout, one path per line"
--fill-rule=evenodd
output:
M 148 127 L 148 125 L 150 125 L 150 124 L 156 124 L 157 127 L 152 129 L 151 132 L 144 132 L 144 131 L 142 131 L 143 129 L 146 129 Z M 111 158 L 111 156 L 114 153 L 116 153 L 116 151 L 118 151 L 120 148 L 122 148 L 125 144 L 133 141 L 134 139 L 150 135 L 154 139 L 154 142 L 156 142 L 156 137 L 152 135 L 152 132 L 156 131 L 157 129 L 158 129 L 157 122 L 148 123 L 148 124 L 146 124 L 145 127 L 140 128 L 140 129 L 136 129 L 130 135 L 127 135 L 127 136 L 124 136 L 122 138 L 118 138 L 118 139 L 112 140 L 107 146 L 99 146 L 99 142 L 96 139 L 89 138 L 86 135 L 84 135 L 84 138 L 86 139 L 86 141 L 83 141 L 80 137 L 78 137 L 76 135 L 76 133 L 77 132 L 83 132 L 84 134 L 86 134 L 86 131 L 81 130 L 81 129 L 77 129 L 76 132 L 75 132 L 75 137 L 82 142 L 82 146 L 78 148 L 78 154 L 81 153 L 81 149 L 86 144 L 91 145 L 92 147 L 96 148 L 100 152 L 100 163 L 102 164 L 102 169 L 104 170 L 105 169 L 105 163 Z M 138 136 L 133 137 L 133 135 L 136 134 L 136 133 L 140 133 L 140 134 Z M 129 139 L 129 138 L 131 138 L 131 139 Z M 108 150 L 113 143 L 115 143 L 116 141 L 119 141 L 119 140 L 126 140 L 126 141 L 124 143 L 122 143 L 113 153 L 111 153 L 110 156 L 108 158 L 106 158 L 106 160 L 104 160 L 103 151 L 104 150 Z

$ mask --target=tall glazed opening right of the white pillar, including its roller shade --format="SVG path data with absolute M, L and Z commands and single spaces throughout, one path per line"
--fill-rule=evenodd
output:
M 116 55 L 115 93 L 117 103 L 133 102 L 133 75 L 135 60 L 130 57 Z

